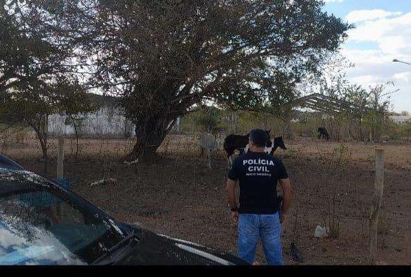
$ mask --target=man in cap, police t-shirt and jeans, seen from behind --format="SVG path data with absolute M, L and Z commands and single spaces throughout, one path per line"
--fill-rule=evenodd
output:
M 282 161 L 265 154 L 267 133 L 255 129 L 249 134 L 249 151 L 232 165 L 227 179 L 227 197 L 232 218 L 238 224 L 238 256 L 252 264 L 258 239 L 263 243 L 265 258 L 270 265 L 282 265 L 281 225 L 291 204 L 291 182 Z M 235 187 L 240 183 L 240 205 Z M 276 186 L 282 187 L 281 217 Z

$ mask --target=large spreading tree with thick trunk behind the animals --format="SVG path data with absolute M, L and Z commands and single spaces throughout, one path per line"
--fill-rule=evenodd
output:
M 122 97 L 137 126 L 134 157 L 155 153 L 175 119 L 203 99 L 237 108 L 292 99 L 351 27 L 314 0 L 37 3 L 60 40 L 86 57 L 75 61 L 89 65 L 89 84 Z

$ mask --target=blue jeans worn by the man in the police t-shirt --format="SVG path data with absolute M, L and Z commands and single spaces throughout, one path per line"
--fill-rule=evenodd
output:
M 238 218 L 238 257 L 254 262 L 258 239 L 263 243 L 269 265 L 282 265 L 281 225 L 274 215 L 240 214 Z

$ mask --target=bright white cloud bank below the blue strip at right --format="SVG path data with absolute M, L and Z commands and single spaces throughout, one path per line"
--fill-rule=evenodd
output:
M 411 12 L 375 11 L 355 11 L 346 17 L 357 22 L 341 51 L 355 63 L 348 78 L 364 86 L 394 81 L 400 89 L 392 97 L 395 110 L 411 111 L 411 65 L 392 62 L 394 58 L 411 62 Z

